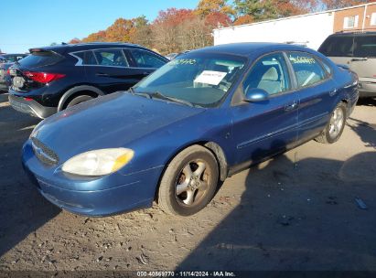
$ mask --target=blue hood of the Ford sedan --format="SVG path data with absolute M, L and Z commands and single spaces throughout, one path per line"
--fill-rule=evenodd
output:
M 116 92 L 49 117 L 32 136 L 66 160 L 92 149 L 127 147 L 137 138 L 204 111 Z

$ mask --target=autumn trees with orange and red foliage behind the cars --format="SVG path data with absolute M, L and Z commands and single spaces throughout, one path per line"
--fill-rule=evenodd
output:
M 203 48 L 213 44 L 212 30 L 253 22 L 297 16 L 328 9 L 360 5 L 360 0 L 200 0 L 195 9 L 168 8 L 150 22 L 145 16 L 118 18 L 105 30 L 80 42 L 130 42 L 162 54 Z

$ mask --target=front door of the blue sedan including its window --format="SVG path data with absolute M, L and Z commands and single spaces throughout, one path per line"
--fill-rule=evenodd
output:
M 263 89 L 269 98 L 231 107 L 236 164 L 260 161 L 295 144 L 299 99 L 283 53 L 259 59 L 241 86 L 242 91 Z

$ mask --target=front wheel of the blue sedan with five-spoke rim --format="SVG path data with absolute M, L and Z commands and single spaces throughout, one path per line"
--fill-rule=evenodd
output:
M 201 145 L 189 146 L 167 166 L 158 190 L 158 205 L 172 215 L 195 214 L 213 198 L 218 178 L 215 156 Z

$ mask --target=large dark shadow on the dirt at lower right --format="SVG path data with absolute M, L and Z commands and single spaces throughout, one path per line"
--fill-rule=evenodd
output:
M 376 270 L 370 167 L 376 166 L 376 152 L 346 161 L 295 162 L 288 155 L 294 156 L 279 155 L 239 174 L 246 175 L 239 205 L 177 270 Z M 355 198 L 368 208 L 357 207 Z

